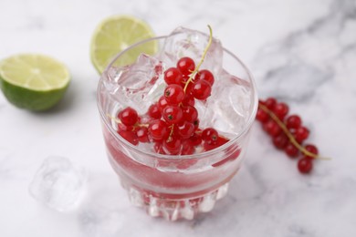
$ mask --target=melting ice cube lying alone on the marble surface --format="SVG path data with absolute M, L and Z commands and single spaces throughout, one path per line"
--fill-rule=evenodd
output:
M 86 180 L 86 171 L 67 158 L 48 157 L 37 170 L 29 192 L 51 209 L 69 211 L 79 204 Z

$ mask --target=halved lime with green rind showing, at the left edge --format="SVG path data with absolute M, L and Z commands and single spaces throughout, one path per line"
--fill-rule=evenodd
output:
M 58 103 L 69 84 L 67 67 L 51 57 L 22 54 L 0 62 L 0 87 L 18 108 L 46 110 Z

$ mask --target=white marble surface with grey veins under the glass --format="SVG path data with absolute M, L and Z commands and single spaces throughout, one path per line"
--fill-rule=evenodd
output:
M 255 124 L 246 163 L 215 210 L 166 222 L 132 207 L 106 159 L 96 106 L 98 75 L 89 39 L 100 20 L 129 14 L 157 35 L 176 26 L 215 29 L 257 80 L 261 98 L 288 102 L 330 161 L 300 175 L 296 160 L 271 146 Z M 356 235 L 356 1 L 2 0 L 0 57 L 37 52 L 66 63 L 73 77 L 58 107 L 14 108 L 0 95 L 0 236 Z M 353 141 L 352 141 L 353 140 Z M 48 156 L 89 172 L 74 211 L 30 197 L 28 184 Z

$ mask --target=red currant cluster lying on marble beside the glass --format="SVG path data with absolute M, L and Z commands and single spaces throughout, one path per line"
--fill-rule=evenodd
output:
M 312 170 L 314 159 L 319 158 L 318 149 L 311 144 L 304 144 L 309 137 L 309 129 L 302 125 L 298 115 L 288 115 L 288 105 L 278 102 L 276 98 L 267 98 L 258 103 L 257 120 L 262 123 L 262 128 L 272 137 L 277 149 L 284 150 L 288 157 L 298 160 L 298 170 L 309 173 Z

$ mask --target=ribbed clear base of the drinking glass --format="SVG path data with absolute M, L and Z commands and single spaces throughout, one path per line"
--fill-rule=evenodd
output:
M 134 187 L 125 187 L 129 199 L 134 206 L 144 209 L 152 217 L 163 217 L 168 221 L 179 219 L 193 220 L 199 212 L 212 211 L 215 202 L 225 197 L 228 183 L 217 190 L 203 196 L 188 199 L 167 199 L 148 191 L 141 191 Z

